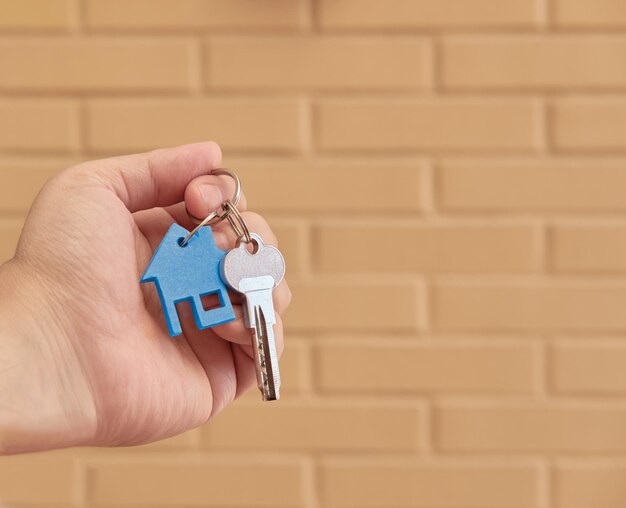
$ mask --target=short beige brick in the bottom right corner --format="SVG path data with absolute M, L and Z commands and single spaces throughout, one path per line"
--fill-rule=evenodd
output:
M 554 471 L 556 508 L 616 508 L 626 500 L 626 463 L 577 461 Z

